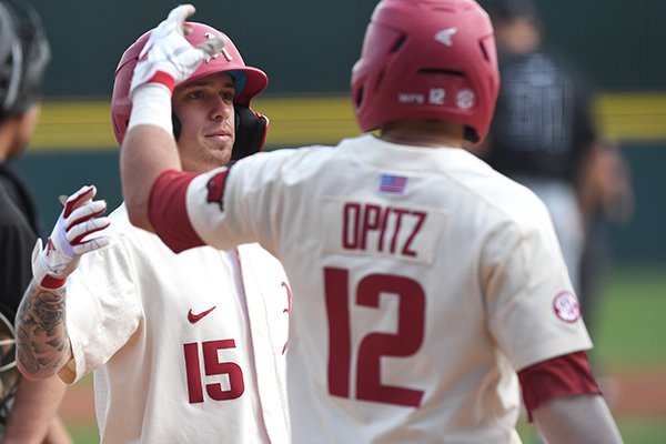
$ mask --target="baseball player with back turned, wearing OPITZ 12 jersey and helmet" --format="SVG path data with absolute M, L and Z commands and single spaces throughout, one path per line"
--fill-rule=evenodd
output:
M 123 193 L 176 251 L 259 241 L 282 261 L 293 442 L 517 443 L 519 389 L 549 443 L 620 442 L 547 210 L 460 148 L 497 97 L 485 11 L 381 1 L 352 71 L 379 135 L 203 174 L 180 171 L 169 113 L 172 84 L 220 51 L 183 38 L 193 12 L 174 9 L 134 71 Z

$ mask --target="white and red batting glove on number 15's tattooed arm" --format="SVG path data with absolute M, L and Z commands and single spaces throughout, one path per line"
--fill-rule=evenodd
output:
M 32 276 L 42 289 L 63 287 L 82 254 L 109 244 L 107 236 L 87 239 L 110 223 L 109 218 L 102 216 L 107 202 L 93 201 L 95 193 L 95 186 L 85 185 L 70 195 L 43 250 L 41 239 L 37 240 L 32 251 Z

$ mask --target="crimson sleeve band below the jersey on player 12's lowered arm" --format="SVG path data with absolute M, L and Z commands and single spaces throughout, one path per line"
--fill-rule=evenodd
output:
M 585 352 L 539 362 L 518 372 L 527 417 L 556 397 L 601 394 Z

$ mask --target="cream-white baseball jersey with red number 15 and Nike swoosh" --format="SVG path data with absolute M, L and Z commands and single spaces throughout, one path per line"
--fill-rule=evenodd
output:
M 111 244 L 68 281 L 60 373 L 94 371 L 102 443 L 289 442 L 280 262 L 258 244 L 174 254 L 124 205 L 111 221 Z

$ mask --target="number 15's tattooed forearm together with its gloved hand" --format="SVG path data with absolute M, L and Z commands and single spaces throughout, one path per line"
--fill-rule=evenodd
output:
M 109 243 L 92 235 L 109 225 L 104 201 L 94 201 L 97 189 L 83 186 L 72 194 L 42 248 L 32 252 L 32 281 L 17 313 L 17 365 L 29 380 L 57 374 L 72 359 L 65 324 L 67 278 L 82 254 Z

